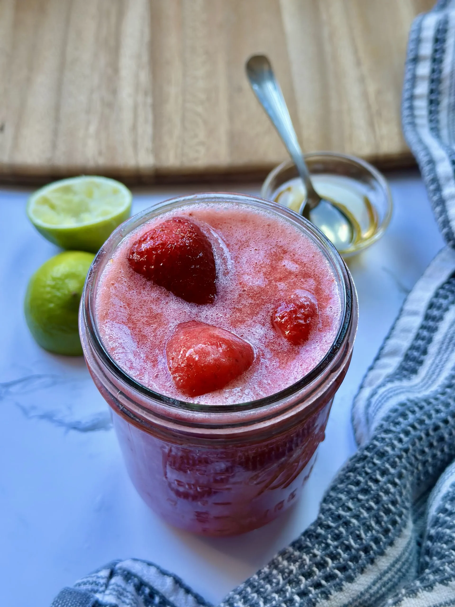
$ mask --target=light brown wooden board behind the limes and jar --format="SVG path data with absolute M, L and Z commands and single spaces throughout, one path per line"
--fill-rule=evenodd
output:
M 244 76 L 271 58 L 303 149 L 409 164 L 409 26 L 433 0 L 0 0 L 0 178 L 265 174 L 286 152 Z

